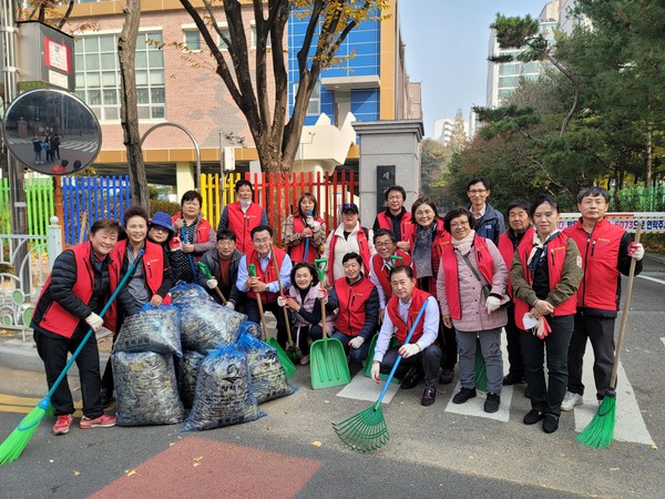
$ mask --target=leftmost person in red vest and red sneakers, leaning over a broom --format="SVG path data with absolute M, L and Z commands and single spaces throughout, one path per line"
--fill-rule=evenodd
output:
M 30 327 L 34 332 L 37 352 L 44 363 L 49 389 L 53 386 L 88 330 L 99 332 L 104 320 L 98 315 L 105 305 L 109 291 L 110 253 L 117 243 L 120 225 L 98 220 L 90 228 L 88 243 L 62 252 L 44 284 Z M 92 337 L 76 357 L 83 418 L 81 428 L 105 428 L 115 418 L 104 414 L 101 399 L 100 353 Z M 74 403 L 66 377 L 51 397 L 55 409 L 53 435 L 69 432 L 74 418 Z

